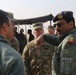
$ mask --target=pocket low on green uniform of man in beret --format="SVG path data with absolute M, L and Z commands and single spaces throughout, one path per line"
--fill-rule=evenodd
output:
M 60 63 L 60 73 L 70 75 L 72 70 L 72 58 L 62 58 Z

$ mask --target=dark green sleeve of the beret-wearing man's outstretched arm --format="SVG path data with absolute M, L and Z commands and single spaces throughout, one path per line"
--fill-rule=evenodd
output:
M 49 34 L 43 34 L 43 38 L 46 42 L 48 42 L 51 45 L 58 46 L 59 45 L 59 38 L 54 34 L 54 35 L 49 35 Z

